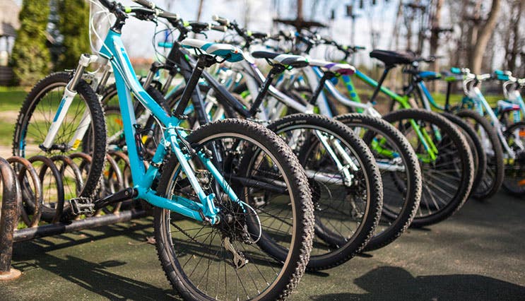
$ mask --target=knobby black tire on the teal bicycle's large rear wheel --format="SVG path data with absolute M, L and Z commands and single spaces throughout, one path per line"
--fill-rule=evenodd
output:
M 261 148 L 261 150 L 264 150 L 267 154 L 269 154 L 269 156 L 274 162 L 278 163 L 278 165 L 280 166 L 279 170 L 281 170 L 282 172 L 281 175 L 283 175 L 285 183 L 288 184 L 286 191 L 288 191 L 288 195 L 290 196 L 291 201 L 291 209 L 288 210 L 293 215 L 293 219 L 290 219 L 293 221 L 293 227 L 290 228 L 290 247 L 288 256 L 286 256 L 285 261 L 276 261 L 275 259 L 271 259 L 271 257 L 269 257 L 267 254 L 265 255 L 265 253 L 262 252 L 261 256 L 264 256 L 262 259 L 260 259 L 259 261 L 254 261 L 252 260 L 252 257 L 249 257 L 250 261 L 247 264 L 247 266 L 237 269 L 235 273 L 233 273 L 233 278 L 230 278 L 231 282 L 244 280 L 247 280 L 249 282 L 251 281 L 249 278 L 251 278 L 252 276 L 250 276 L 249 274 L 244 275 L 245 273 L 249 273 L 249 271 L 252 271 L 252 273 L 254 273 L 253 276 L 257 276 L 256 271 L 259 271 L 260 273 L 259 269 L 253 270 L 249 268 L 250 266 L 254 267 L 254 264 L 257 263 L 271 264 L 275 266 L 275 270 L 278 270 L 273 273 L 273 277 L 276 278 L 273 281 L 271 279 L 266 280 L 267 283 L 264 283 L 263 287 L 258 289 L 259 293 L 255 293 L 256 295 L 252 295 L 250 297 L 260 298 L 261 300 L 285 299 L 286 297 L 288 297 L 288 295 L 290 295 L 291 291 L 295 288 L 305 271 L 309 259 L 309 252 L 312 248 L 312 237 L 314 235 L 312 196 L 308 188 L 308 182 L 304 170 L 302 170 L 302 167 L 298 163 L 297 158 L 295 157 L 295 155 L 293 155 L 290 148 L 288 148 L 288 146 L 285 145 L 281 138 L 278 138 L 276 134 L 273 134 L 271 131 L 269 131 L 269 129 L 264 128 L 264 126 L 254 124 L 253 122 L 249 122 L 247 120 L 224 119 L 219 122 L 213 122 L 210 124 L 203 125 L 199 127 L 199 129 L 197 129 L 196 131 L 193 131 L 187 137 L 187 141 L 189 141 L 189 143 L 191 143 L 191 145 L 198 150 L 203 144 L 208 143 L 208 141 L 213 141 L 214 139 L 220 137 L 243 137 L 247 139 L 246 141 L 252 141 L 254 145 L 256 145 L 258 148 Z M 196 162 L 199 162 L 199 160 L 196 160 Z M 167 161 L 167 163 L 164 163 L 157 189 L 160 195 L 163 196 L 167 193 L 170 193 L 170 191 L 167 190 L 169 190 L 169 186 L 173 181 L 172 179 L 175 179 L 172 177 L 172 175 L 175 175 L 174 170 L 176 170 L 176 168 L 177 160 L 175 159 L 175 157 L 170 158 Z M 211 187 L 213 189 L 213 185 L 211 185 Z M 220 196 L 220 194 L 216 195 Z M 219 197 L 218 199 L 222 198 Z M 232 202 L 230 201 L 226 203 L 231 204 Z M 187 258 L 191 259 L 191 257 L 194 256 L 193 254 L 189 254 L 189 257 L 184 257 L 184 252 L 182 250 L 179 251 L 180 248 L 184 247 L 184 244 L 186 242 L 191 240 L 179 240 L 177 241 L 175 246 L 174 244 L 172 244 L 171 240 L 172 231 L 170 229 L 170 222 L 172 225 L 176 223 L 179 223 L 179 225 L 181 225 L 181 223 L 183 222 L 178 222 L 178 220 L 187 219 L 179 218 L 179 216 L 177 216 L 177 220 L 174 220 L 173 218 L 170 218 L 169 213 L 170 211 L 161 208 L 155 208 L 154 223 L 155 240 L 158 256 L 167 276 L 167 279 L 168 281 L 170 281 L 173 288 L 175 288 L 175 290 L 177 290 L 177 292 L 180 295 L 182 295 L 182 297 L 185 300 L 213 300 L 215 298 L 227 299 L 228 297 L 240 297 L 244 299 L 247 295 L 249 295 L 248 293 L 243 293 L 242 296 L 233 296 L 235 292 L 228 291 L 228 285 L 235 285 L 235 283 L 228 282 L 228 278 L 226 277 L 225 283 L 221 281 L 220 285 L 218 285 L 217 288 L 221 292 L 223 288 L 225 288 L 224 291 L 228 291 L 228 293 L 232 294 L 228 295 L 228 297 L 223 297 L 223 295 L 219 295 L 219 292 L 217 292 L 216 294 L 208 295 L 207 292 L 203 292 L 204 285 L 201 285 L 201 288 L 196 287 L 197 283 L 193 283 L 191 281 L 191 275 L 188 276 L 187 273 L 183 271 L 181 263 L 179 263 L 179 257 L 181 258 L 181 260 L 183 258 L 184 260 L 186 260 Z M 189 220 L 189 222 L 191 223 L 191 220 Z M 264 231 L 266 232 L 266 230 Z M 177 235 L 177 232 L 173 232 L 173 235 Z M 197 237 L 195 236 L 194 240 L 196 240 L 196 238 Z M 212 237 L 211 242 L 213 241 L 213 239 L 214 238 Z M 237 241 L 234 240 L 234 243 L 235 242 Z M 244 244 L 242 245 L 244 246 Z M 255 247 L 259 247 L 259 243 L 247 246 L 252 246 L 254 249 Z M 175 250 L 175 247 L 179 249 Z M 201 248 L 199 248 L 198 250 L 201 250 Z M 222 248 L 219 249 L 219 251 L 220 250 L 222 250 Z M 215 255 L 208 254 L 208 256 L 218 256 L 219 251 L 217 251 Z M 248 256 L 252 253 L 244 252 L 244 254 L 244 256 Z M 221 257 L 221 259 L 222 258 L 223 257 Z M 205 259 L 203 264 L 206 264 L 206 260 L 208 259 Z M 222 273 L 224 273 L 224 275 L 226 276 L 225 271 L 226 268 L 228 268 L 228 266 L 226 264 L 226 261 L 219 261 L 219 263 L 221 262 L 224 262 L 224 268 L 221 267 L 220 269 L 220 277 L 222 278 Z M 200 264 L 200 261 L 197 264 Z M 272 267 L 270 266 L 269 268 Z M 237 271 L 239 274 L 235 276 Z M 240 275 L 241 273 L 242 275 Z M 237 278 L 237 280 L 234 280 L 235 278 Z M 214 278 L 213 281 L 213 286 L 215 286 L 215 282 L 220 280 Z M 243 286 L 243 288 L 244 290 L 247 290 L 247 287 Z M 240 290 L 242 290 L 242 288 L 240 288 Z M 252 290 L 250 290 L 250 292 L 252 292 Z

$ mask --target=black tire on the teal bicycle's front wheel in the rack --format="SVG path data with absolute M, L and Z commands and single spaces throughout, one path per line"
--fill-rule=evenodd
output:
M 46 78 L 42 79 L 42 81 L 38 82 L 35 85 L 35 87 L 33 87 L 33 89 L 30 91 L 30 93 L 23 102 L 22 108 L 20 109 L 20 114 L 18 115 L 18 119 L 16 121 L 15 131 L 13 135 L 13 155 L 18 155 L 20 157 L 25 157 L 26 155 L 29 155 L 25 152 L 25 148 L 28 145 L 28 141 L 26 140 L 28 138 L 28 124 L 30 123 L 31 118 L 33 117 L 37 105 L 39 105 L 40 102 L 47 101 L 47 105 L 51 107 L 52 100 L 50 98 L 52 97 L 52 95 L 49 94 L 49 98 L 46 98 L 47 93 L 51 93 L 52 90 L 54 90 L 54 88 L 65 87 L 66 84 L 69 83 L 69 79 L 69 73 L 52 73 Z M 95 94 L 95 92 L 93 92 L 93 89 L 88 83 L 86 83 L 83 80 L 79 81 L 76 90 L 78 96 L 80 96 L 81 102 L 83 102 L 85 107 L 87 107 L 89 110 L 91 116 L 91 125 L 90 129 L 88 129 L 88 131 L 86 132 L 86 136 L 90 134 L 90 136 L 92 137 L 90 141 L 93 141 L 93 143 L 90 143 L 89 146 L 86 146 L 85 143 L 82 143 L 83 151 L 91 155 L 93 161 L 90 164 L 87 179 L 85 179 L 84 181 L 84 185 L 81 189 L 81 193 L 79 194 L 79 196 L 92 197 L 97 192 L 98 184 L 100 183 L 100 177 L 102 175 L 102 168 L 104 167 L 105 162 L 106 126 L 104 121 L 104 111 L 100 106 L 100 102 L 98 102 L 97 95 Z M 56 94 L 58 95 L 58 100 L 56 98 L 54 100 L 57 100 L 59 102 L 61 99 L 61 95 L 59 95 L 60 93 Z M 70 110 L 73 110 L 72 107 L 70 107 Z M 83 112 L 79 113 L 79 117 L 81 117 L 82 113 Z M 45 112 L 43 112 L 42 114 L 45 114 Z M 51 112 L 51 110 L 49 110 L 49 114 L 52 114 L 54 116 L 54 112 Z M 53 116 L 49 117 L 52 118 Z M 65 133 L 67 134 L 68 132 Z M 45 134 L 47 134 L 47 129 L 42 129 L 39 131 L 39 133 L 32 134 L 32 139 L 33 141 L 35 141 L 35 143 L 40 144 L 44 141 Z M 56 141 L 61 141 L 60 139 L 61 138 L 57 136 Z M 63 140 L 64 141 L 61 142 L 69 142 L 68 139 L 65 137 L 63 138 Z M 46 155 L 52 157 L 53 155 L 68 154 L 68 151 L 44 152 L 40 150 L 37 151 L 37 153 L 31 155 Z M 46 210 L 42 212 L 42 218 L 44 220 L 49 220 L 49 218 L 51 217 L 51 212 L 47 212 Z

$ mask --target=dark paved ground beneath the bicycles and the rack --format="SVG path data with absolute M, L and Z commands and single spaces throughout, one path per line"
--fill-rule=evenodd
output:
M 0 300 L 169 299 L 151 235 L 143 219 L 16 244 L 23 276 L 0 283 Z M 469 201 L 439 225 L 307 274 L 293 300 L 525 300 L 525 200 Z

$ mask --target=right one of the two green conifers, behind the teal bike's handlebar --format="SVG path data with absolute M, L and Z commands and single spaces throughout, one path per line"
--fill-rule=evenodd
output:
M 85 0 L 59 0 L 59 31 L 63 49 L 55 69 L 74 69 L 81 54 L 90 52 L 89 4 Z

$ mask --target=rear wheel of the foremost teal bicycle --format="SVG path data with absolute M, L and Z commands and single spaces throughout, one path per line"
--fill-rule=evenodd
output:
M 284 299 L 305 271 L 314 235 L 312 196 L 297 158 L 276 134 L 247 120 L 206 124 L 187 141 L 196 151 L 220 150 L 217 167 L 247 209 L 216 189 L 200 160 L 191 160 L 206 194 L 216 195 L 222 222 L 211 226 L 155 209 L 156 246 L 167 279 L 187 300 Z M 242 166 L 247 150 L 256 154 L 250 158 L 256 164 Z M 163 165 L 157 191 L 199 201 L 175 157 Z M 267 254 L 267 244 L 285 252 L 284 260 Z

